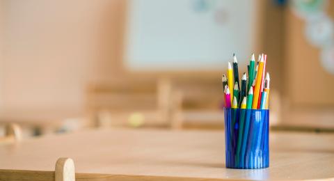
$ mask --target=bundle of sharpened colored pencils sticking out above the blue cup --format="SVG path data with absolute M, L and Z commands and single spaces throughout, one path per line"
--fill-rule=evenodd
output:
M 224 107 L 232 109 L 268 109 L 269 73 L 266 73 L 267 54 L 260 54 L 255 67 L 255 56 L 252 54 L 246 73 L 239 81 L 238 61 L 235 54 L 233 63 L 228 62 L 228 76 L 223 74 Z

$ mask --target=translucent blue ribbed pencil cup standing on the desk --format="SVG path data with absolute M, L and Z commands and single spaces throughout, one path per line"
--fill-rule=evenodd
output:
M 224 108 L 227 168 L 269 167 L 269 110 Z

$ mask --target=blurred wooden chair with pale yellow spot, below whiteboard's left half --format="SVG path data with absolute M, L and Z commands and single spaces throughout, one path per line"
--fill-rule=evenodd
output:
M 127 77 L 88 88 L 88 110 L 97 127 L 170 127 L 169 79 Z

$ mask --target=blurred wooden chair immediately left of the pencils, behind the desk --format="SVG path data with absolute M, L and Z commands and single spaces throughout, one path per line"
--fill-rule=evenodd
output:
M 219 79 L 194 77 L 173 81 L 175 129 L 223 129 L 223 91 Z

